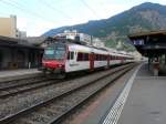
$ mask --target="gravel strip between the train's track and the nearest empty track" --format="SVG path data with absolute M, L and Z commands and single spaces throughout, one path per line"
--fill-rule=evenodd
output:
M 66 90 L 73 89 L 75 86 L 85 84 L 97 78 L 101 78 L 107 73 L 111 73 L 112 70 L 91 74 L 72 81 L 55 83 L 51 86 L 42 87 L 31 92 L 18 94 L 15 96 L 8 97 L 6 100 L 0 100 L 0 118 L 3 118 L 10 114 L 19 112 L 25 107 L 30 107 L 41 101 L 45 101 L 52 96 L 62 94 Z

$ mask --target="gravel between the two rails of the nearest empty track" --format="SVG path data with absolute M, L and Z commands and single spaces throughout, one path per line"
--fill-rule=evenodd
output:
M 124 71 L 125 72 L 125 71 Z M 13 124 L 50 124 L 56 117 L 59 117 L 62 113 L 68 112 L 80 102 L 84 101 L 86 97 L 94 94 L 96 91 L 101 90 L 101 87 L 108 84 L 112 80 L 116 78 L 116 75 L 122 74 L 113 74 L 112 76 L 106 76 L 102 80 L 96 81 L 81 90 L 76 90 L 71 94 L 65 95 L 64 97 L 58 99 L 51 102 L 44 107 L 35 108 L 32 113 L 21 116 L 21 118 L 12 122 Z

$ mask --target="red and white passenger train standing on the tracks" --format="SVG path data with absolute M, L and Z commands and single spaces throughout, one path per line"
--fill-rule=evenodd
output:
M 75 43 L 55 42 L 45 50 L 43 72 L 70 73 L 134 61 L 133 56 Z

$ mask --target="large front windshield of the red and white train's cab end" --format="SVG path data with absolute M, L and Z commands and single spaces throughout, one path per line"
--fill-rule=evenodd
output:
M 64 44 L 50 45 L 44 50 L 43 59 L 45 60 L 63 60 L 65 58 L 66 48 Z

